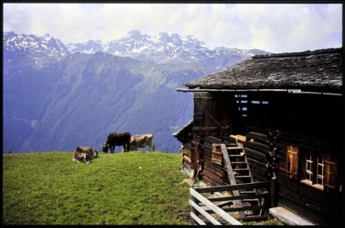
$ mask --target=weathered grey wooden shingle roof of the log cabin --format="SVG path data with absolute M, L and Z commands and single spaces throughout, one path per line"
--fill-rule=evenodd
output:
M 343 48 L 255 55 L 184 85 L 189 88 L 282 88 L 342 93 L 342 55 Z

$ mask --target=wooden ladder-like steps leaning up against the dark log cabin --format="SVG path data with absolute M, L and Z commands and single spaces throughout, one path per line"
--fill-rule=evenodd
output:
M 250 171 L 246 153 L 244 152 L 243 144 L 221 144 L 221 153 L 228 171 L 228 178 L 231 185 L 253 183 L 253 175 Z M 249 191 L 234 190 L 233 196 L 257 195 L 257 189 L 250 189 Z M 235 200 L 235 207 L 242 207 L 244 204 L 250 206 L 259 206 L 261 202 L 258 198 L 247 200 Z M 253 211 L 252 213 L 258 213 Z M 259 211 L 260 213 L 260 211 Z M 239 211 L 240 218 L 247 218 L 250 216 L 249 211 Z

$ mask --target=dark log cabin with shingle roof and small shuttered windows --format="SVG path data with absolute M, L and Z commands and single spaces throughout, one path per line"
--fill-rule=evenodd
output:
M 229 184 L 220 144 L 244 146 L 255 182 L 278 181 L 279 207 L 316 225 L 343 220 L 342 48 L 257 55 L 178 88 L 194 116 L 174 133 L 182 169 Z

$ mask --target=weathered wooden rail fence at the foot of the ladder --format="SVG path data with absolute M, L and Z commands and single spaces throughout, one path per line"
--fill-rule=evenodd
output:
M 267 218 L 266 211 L 270 208 L 271 201 L 272 201 L 272 194 L 270 194 L 273 182 L 266 181 L 266 182 L 253 182 L 248 184 L 236 184 L 236 185 L 221 185 L 216 187 L 206 187 L 201 189 L 193 189 L 190 188 L 190 194 L 192 195 L 192 199 L 189 200 L 189 204 L 192 206 L 192 211 L 190 212 L 190 217 L 199 224 L 199 225 L 207 225 L 207 223 L 211 223 L 213 225 L 242 225 L 237 219 L 230 216 L 227 212 L 234 212 L 234 211 L 262 211 L 259 216 L 254 216 L 252 218 Z M 266 189 L 257 195 L 242 195 L 242 196 L 225 196 L 219 198 L 206 198 L 202 196 L 202 193 L 215 193 L 221 191 L 246 191 L 246 189 Z M 213 202 L 229 202 L 232 200 L 250 200 L 250 199 L 261 199 L 262 205 L 259 206 L 249 206 L 249 207 L 230 207 L 227 209 L 221 209 Z M 263 213 L 264 212 L 264 213 Z M 217 214 L 217 218 L 213 215 Z M 206 218 L 204 221 L 201 218 Z M 219 219 L 219 217 L 221 219 Z M 241 218 L 242 220 L 242 218 Z M 221 223 L 222 222 L 222 223 Z

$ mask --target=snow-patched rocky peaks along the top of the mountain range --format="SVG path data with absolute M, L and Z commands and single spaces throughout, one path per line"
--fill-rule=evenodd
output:
M 139 30 L 130 30 L 124 37 L 111 41 L 89 40 L 66 45 L 49 34 L 39 37 L 16 32 L 3 32 L 3 48 L 6 51 L 19 51 L 33 57 L 47 55 L 61 57 L 77 52 L 86 54 L 104 52 L 139 61 L 154 61 L 158 64 L 173 61 L 199 61 L 206 58 L 219 59 L 220 56 L 225 55 L 243 60 L 254 55 L 250 50 L 225 47 L 210 48 L 193 35 L 183 37 L 170 32 L 146 35 Z M 264 53 L 262 51 L 261 54 Z

